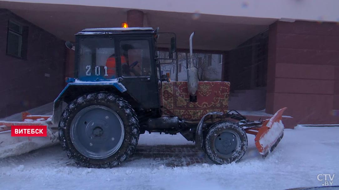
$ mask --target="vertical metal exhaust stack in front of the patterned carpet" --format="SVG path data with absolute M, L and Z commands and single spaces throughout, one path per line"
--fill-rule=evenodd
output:
M 190 66 L 187 68 L 187 85 L 188 85 L 188 93 L 190 93 L 190 101 L 196 102 L 197 101 L 197 90 L 198 90 L 198 69 L 193 65 L 193 32 L 190 36 L 190 58 L 191 63 Z

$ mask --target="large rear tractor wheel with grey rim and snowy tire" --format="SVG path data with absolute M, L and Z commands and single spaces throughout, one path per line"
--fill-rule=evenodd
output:
M 59 139 L 76 164 L 112 168 L 125 161 L 139 140 L 139 123 L 127 101 L 109 93 L 76 98 L 63 111 Z

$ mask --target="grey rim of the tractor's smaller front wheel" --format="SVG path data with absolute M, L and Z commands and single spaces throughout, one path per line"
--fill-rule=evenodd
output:
M 214 151 L 223 158 L 232 157 L 238 148 L 240 148 L 240 137 L 233 130 L 223 130 L 214 138 Z

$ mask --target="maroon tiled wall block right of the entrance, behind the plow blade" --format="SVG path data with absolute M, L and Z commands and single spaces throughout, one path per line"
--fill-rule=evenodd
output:
M 294 125 L 338 124 L 339 25 L 308 21 L 270 26 L 266 112 L 287 107 Z

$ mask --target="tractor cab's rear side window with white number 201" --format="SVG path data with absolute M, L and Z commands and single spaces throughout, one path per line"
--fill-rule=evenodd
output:
M 80 39 L 78 53 L 78 78 L 80 80 L 95 81 L 116 78 L 113 39 Z

